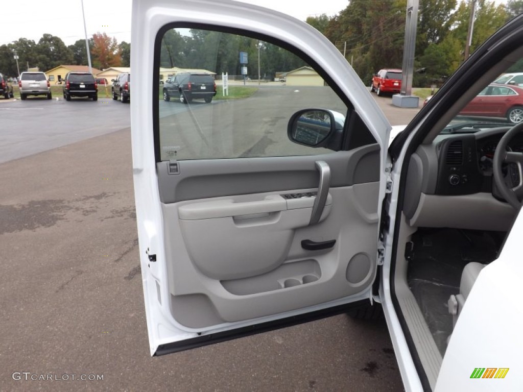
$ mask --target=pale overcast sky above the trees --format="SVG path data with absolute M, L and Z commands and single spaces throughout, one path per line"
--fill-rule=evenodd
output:
M 339 13 L 348 0 L 242 0 L 276 9 L 300 20 L 309 16 Z M 85 24 L 88 38 L 105 32 L 118 42 L 131 41 L 131 0 L 84 0 Z M 38 43 L 44 33 L 60 37 L 66 45 L 85 39 L 81 0 L 26 0 L 22 6 L 3 7 L 8 11 L 7 26 L 2 24 L 0 45 L 19 38 Z M 29 11 L 30 10 L 30 11 Z

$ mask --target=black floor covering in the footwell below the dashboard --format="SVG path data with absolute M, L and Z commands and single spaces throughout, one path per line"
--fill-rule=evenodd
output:
M 407 281 L 441 353 L 452 333 L 447 301 L 459 293 L 461 272 L 471 261 L 495 259 L 503 233 L 460 229 L 418 229 L 407 246 Z

